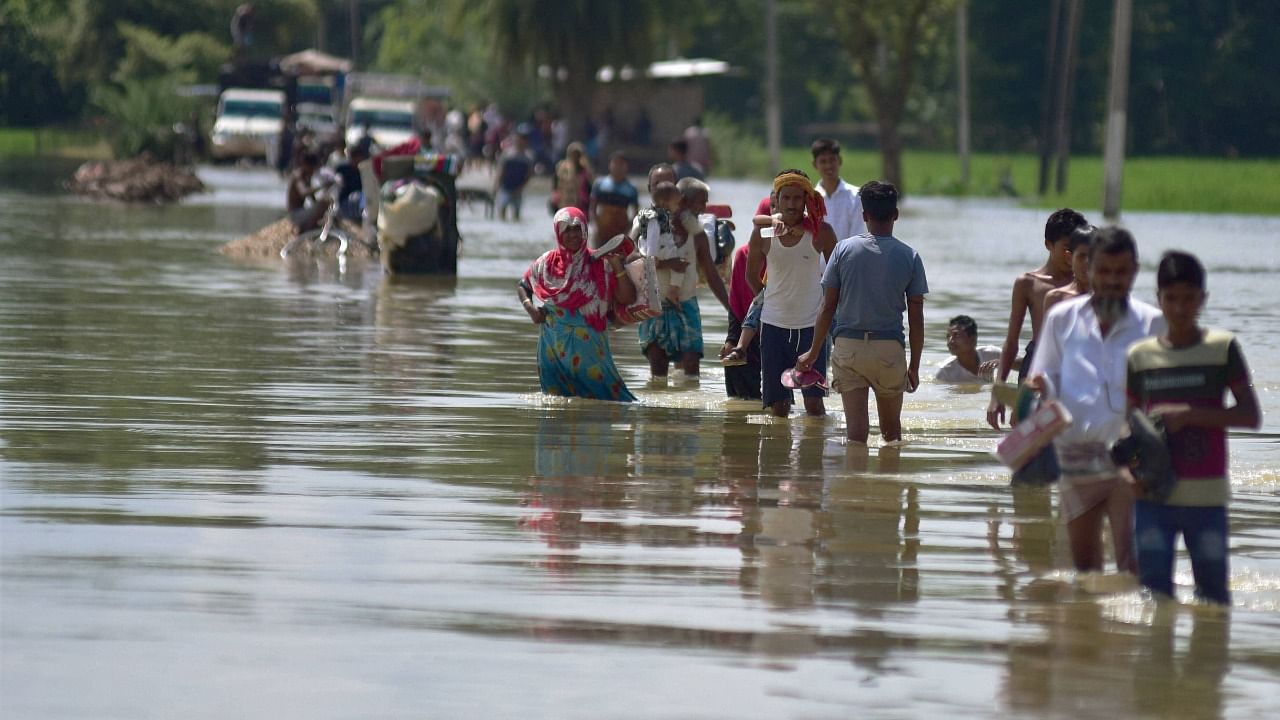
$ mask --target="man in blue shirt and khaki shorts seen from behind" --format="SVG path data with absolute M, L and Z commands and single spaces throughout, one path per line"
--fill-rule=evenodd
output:
M 822 274 L 823 301 L 813 343 L 796 360 L 796 369 L 808 370 L 827 334 L 833 336 L 831 384 L 845 406 L 849 441 L 867 443 L 870 389 L 876 392 L 881 436 L 884 442 L 900 442 L 902 393 L 915 392 L 920 384 L 924 296 L 929 284 L 920 255 L 893 237 L 897 188 L 872 181 L 859 195 L 867 232 L 841 241 L 832 252 Z M 902 332 L 904 310 L 908 334 Z

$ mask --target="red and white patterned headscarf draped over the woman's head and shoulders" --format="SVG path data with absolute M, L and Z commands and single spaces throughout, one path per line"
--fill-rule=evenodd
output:
M 577 250 L 564 247 L 564 231 L 582 229 Z M 562 208 L 552 218 L 556 250 L 548 250 L 525 270 L 525 282 L 543 302 L 562 310 L 579 310 L 586 324 L 598 331 L 608 327 L 609 299 L 613 297 L 613 275 L 603 260 L 591 258 L 586 249 L 586 215 L 577 208 Z

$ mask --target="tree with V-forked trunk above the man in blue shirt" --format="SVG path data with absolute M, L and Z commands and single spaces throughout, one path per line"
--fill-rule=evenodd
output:
M 901 123 L 919 65 L 942 40 L 954 0 L 822 3 L 870 97 L 883 179 L 902 187 Z

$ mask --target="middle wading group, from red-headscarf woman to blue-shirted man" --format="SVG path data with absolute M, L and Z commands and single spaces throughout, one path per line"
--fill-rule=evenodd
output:
M 867 442 L 868 398 L 874 392 L 882 433 L 887 441 L 900 441 L 902 393 L 914 391 L 919 383 L 923 302 L 928 292 L 924 265 L 919 254 L 892 234 L 897 190 L 881 182 L 859 190 L 841 179 L 842 159 L 836 141 L 819 140 L 810 150 L 819 182 L 814 183 L 800 169 L 778 173 L 769 197 L 760 202 L 750 241 L 732 260 L 728 288 L 717 272 L 710 242 L 698 219 L 707 208 L 709 187 L 694 176 L 677 177 L 672 164 L 650 169 L 648 188 L 653 204 L 630 219 L 634 188 L 625 190 L 630 186 L 626 160 L 612 158 L 609 176 L 591 186 L 586 217 L 596 223 L 596 243 L 622 232 L 627 223 L 630 242 L 604 258 L 580 246 L 573 251 L 575 258 L 580 256 L 586 266 L 600 266 L 632 252 L 654 258 L 658 284 L 667 297 L 660 314 L 637 327 L 640 350 L 654 378 L 667 377 L 672 364 L 678 364 L 686 375 L 700 372 L 704 343 L 695 270 L 701 270 L 730 318 L 730 337 L 721 357 L 731 396 L 760 400 L 773 414 L 786 416 L 795 398 L 794 388 L 783 384 L 783 373 L 813 369 L 822 382 L 804 383 L 799 389 L 806 413 L 820 415 L 826 411 L 828 347 L 833 347 L 831 386 L 841 395 L 851 418 L 849 439 Z M 579 209 L 563 208 L 557 213 L 557 237 L 559 223 L 570 217 L 566 210 Z M 630 396 L 613 391 L 585 393 L 584 383 L 573 383 L 571 391 L 567 383 L 548 382 L 556 373 L 545 365 L 567 363 L 557 372 L 572 374 L 575 360 L 572 354 L 545 350 L 556 341 L 552 328 L 545 327 L 548 310 L 543 304 L 554 305 L 556 293 L 545 283 L 540 290 L 532 279 L 540 265 L 567 263 L 554 260 L 564 258 L 564 252 L 561 243 L 539 259 L 518 290 L 530 318 L 544 325 L 539 350 L 543 391 L 605 400 Z M 611 282 L 625 287 L 627 296 L 635 292 L 622 269 L 613 273 Z M 588 282 L 584 288 L 607 299 L 613 290 L 605 284 Z M 909 332 L 904 329 L 904 313 Z M 607 318 L 598 325 L 595 333 L 602 336 L 604 348 L 598 356 L 608 357 L 608 340 L 603 337 Z M 612 357 L 608 365 L 612 368 Z M 613 377 L 617 372 L 607 374 Z

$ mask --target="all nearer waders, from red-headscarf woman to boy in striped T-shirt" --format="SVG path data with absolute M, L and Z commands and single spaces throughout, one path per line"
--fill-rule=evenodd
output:
M 686 255 L 659 263 L 668 273 L 700 266 L 726 306 L 730 337 L 721 356 L 731 395 L 759 398 L 786 416 L 792 388 L 799 387 L 805 411 L 822 415 L 829 364 L 829 387 L 840 393 L 846 415 L 846 442 L 867 443 L 874 395 L 883 442 L 899 443 L 902 396 L 919 384 L 929 290 L 924 265 L 893 236 L 896 188 L 876 181 L 854 188 L 840 179 L 837 143 L 818 141 L 812 150 L 819 182 L 799 169 L 778 173 L 771 196 L 760 202 L 750 241 L 735 254 L 727 292 L 710 261 L 707 236 L 696 225 L 680 220 L 653 225 L 659 234 L 685 234 L 691 243 Z M 614 169 L 611 164 L 612 182 L 625 182 L 625 172 Z M 675 179 L 669 165 L 654 167 L 650 193 L 662 195 L 659 188 Z M 681 205 L 671 218 L 684 210 L 696 214 L 707 204 L 705 183 L 686 179 L 681 186 Z M 609 217 L 595 205 L 595 192 L 591 197 L 593 219 Z M 657 206 L 650 210 L 639 217 L 658 215 Z M 622 224 L 612 218 L 602 236 Z M 636 232 L 640 224 L 634 223 L 631 234 L 641 240 L 640 252 L 653 252 L 660 245 L 645 242 L 646 233 Z M 586 215 L 576 208 L 557 213 L 554 225 L 559 246 L 534 263 L 518 291 L 532 322 L 543 327 L 543 391 L 634 400 L 607 337 L 609 304 L 635 297 L 622 263 L 628 250 L 595 258 L 577 240 L 576 228 L 585 237 Z M 1228 332 L 1198 324 L 1207 297 L 1203 266 L 1187 252 L 1165 254 L 1157 270 L 1160 307 L 1155 307 L 1130 297 L 1138 249 L 1128 231 L 1094 228 L 1079 213 L 1062 209 L 1046 223 L 1044 246 L 1046 263 L 1014 284 L 998 359 L 993 350 L 986 356 L 978 352 L 975 324 L 957 316 L 948 328 L 956 366 L 947 373 L 1004 380 L 1018 361 L 1019 336 L 1030 315 L 1032 342 L 1020 360 L 1019 379 L 1042 400 L 1061 402 L 1073 420 L 1050 448 L 1015 471 L 1015 482 L 1057 482 L 1078 570 L 1103 569 L 1106 519 L 1117 569 L 1171 596 L 1175 541 L 1181 534 L 1197 596 L 1229 603 L 1226 428 L 1257 427 L 1261 411 L 1239 343 Z M 575 323 L 568 342 L 561 329 L 566 318 Z M 641 324 L 639 338 L 654 377 L 666 375 L 671 363 L 696 374 L 703 345 L 692 288 L 666 300 L 662 314 Z M 575 343 L 581 345 L 575 348 Z M 805 375 L 813 379 L 801 382 Z M 1228 393 L 1234 398 L 1230 406 Z M 1169 495 L 1146 487 L 1112 454 L 1129 432 L 1133 411 L 1158 418 L 1164 427 L 1176 477 Z M 987 420 L 1002 427 L 1006 410 L 998 401 L 992 400 Z

